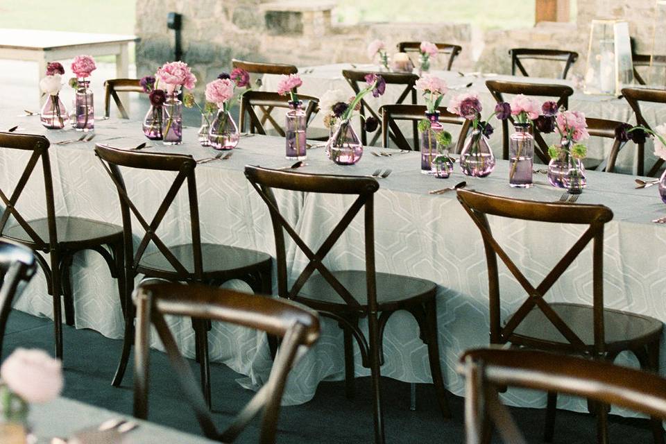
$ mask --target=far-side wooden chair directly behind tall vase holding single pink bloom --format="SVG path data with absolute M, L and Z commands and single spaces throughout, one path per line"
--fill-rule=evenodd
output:
M 309 123 L 318 112 L 319 99 L 312 96 L 299 95 L 298 99 L 303 102 L 305 110 L 305 121 Z M 266 122 L 281 137 L 284 137 L 284 119 L 282 123 L 275 120 L 271 115 L 275 108 L 289 108 L 289 96 L 281 96 L 277 92 L 248 91 L 243 94 L 240 108 L 241 131 L 249 131 L 266 135 Z

